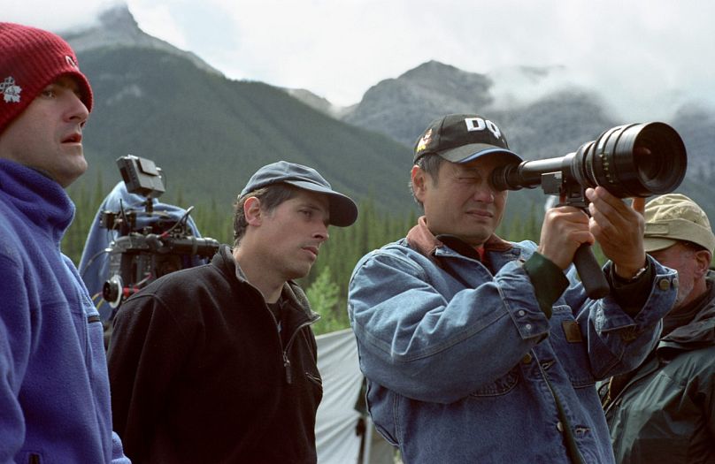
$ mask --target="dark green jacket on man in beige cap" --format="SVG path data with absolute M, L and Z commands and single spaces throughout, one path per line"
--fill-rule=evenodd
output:
M 687 325 L 660 340 L 604 409 L 620 464 L 715 463 L 715 274 Z

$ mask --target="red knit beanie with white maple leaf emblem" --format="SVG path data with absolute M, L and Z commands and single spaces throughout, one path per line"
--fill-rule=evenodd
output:
M 75 78 L 91 111 L 92 87 L 67 42 L 42 29 L 0 22 L 0 133 L 63 74 Z

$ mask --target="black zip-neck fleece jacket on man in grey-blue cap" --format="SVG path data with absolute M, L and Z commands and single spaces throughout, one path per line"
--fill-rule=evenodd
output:
M 159 278 L 119 308 L 112 415 L 133 462 L 316 461 L 318 316 L 295 283 L 282 298 L 279 334 L 224 246 L 210 264 Z

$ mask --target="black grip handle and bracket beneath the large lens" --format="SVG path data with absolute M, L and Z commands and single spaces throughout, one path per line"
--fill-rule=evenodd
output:
M 588 215 L 588 200 L 586 189 L 577 182 L 563 182 L 562 172 L 546 172 L 542 174 L 542 189 L 544 194 L 557 194 L 557 206 L 573 206 Z M 589 215 L 590 216 L 590 215 Z M 593 249 L 588 243 L 583 243 L 573 255 L 573 265 L 579 272 L 581 284 L 586 290 L 588 298 L 600 300 L 604 298 L 611 287 L 604 276 L 604 271 L 596 261 Z

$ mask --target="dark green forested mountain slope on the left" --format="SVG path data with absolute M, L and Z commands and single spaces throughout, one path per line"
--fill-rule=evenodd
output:
M 230 204 L 258 167 L 281 159 L 317 168 L 357 199 L 411 209 L 410 148 L 312 110 L 281 89 L 227 80 L 153 49 L 96 49 L 80 56 L 96 106 L 85 132 L 93 185 L 119 181 L 114 160 L 154 160 L 165 201 Z M 401 215 L 402 216 L 402 215 Z

